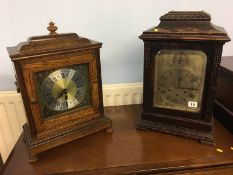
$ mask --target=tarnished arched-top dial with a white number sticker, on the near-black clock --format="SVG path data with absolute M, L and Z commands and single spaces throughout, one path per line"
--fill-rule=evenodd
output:
M 153 106 L 199 112 L 207 56 L 197 50 L 165 49 L 155 55 Z

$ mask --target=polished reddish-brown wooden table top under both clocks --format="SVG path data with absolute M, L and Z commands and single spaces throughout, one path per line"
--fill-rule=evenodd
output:
M 138 131 L 140 112 L 141 105 L 107 107 L 113 133 L 101 131 L 51 149 L 32 164 L 21 137 L 3 175 L 169 173 L 233 165 L 233 135 L 219 122 L 215 122 L 216 146 L 212 147 L 160 132 Z

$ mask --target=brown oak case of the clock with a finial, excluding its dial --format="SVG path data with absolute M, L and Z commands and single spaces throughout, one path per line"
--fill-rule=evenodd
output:
M 104 115 L 100 48 L 102 43 L 78 36 L 76 33 L 57 34 L 50 23 L 49 35 L 36 36 L 16 47 L 8 47 L 14 63 L 18 85 L 25 106 L 27 123 L 23 126 L 29 161 L 53 147 L 106 129 L 111 132 L 112 122 Z M 91 105 L 83 109 L 43 118 L 36 91 L 39 71 L 69 65 L 88 64 Z

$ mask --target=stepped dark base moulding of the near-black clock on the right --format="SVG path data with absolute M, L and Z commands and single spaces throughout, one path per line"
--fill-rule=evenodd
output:
M 184 118 L 179 118 L 179 117 L 166 117 L 170 118 L 170 124 L 168 122 L 163 123 L 162 121 L 164 120 L 164 116 L 159 116 L 159 115 L 147 115 L 147 114 L 142 114 L 143 119 L 138 123 L 137 129 L 139 130 L 144 130 L 144 131 L 162 131 L 167 134 L 172 134 L 176 136 L 182 136 L 190 139 L 195 139 L 200 141 L 200 143 L 204 143 L 207 145 L 214 145 L 215 139 L 213 137 L 213 120 L 212 122 L 205 123 L 205 122 L 197 122 L 195 120 L 190 120 L 190 119 L 184 119 Z M 151 121 L 151 118 L 153 117 L 154 120 Z M 167 121 L 167 119 L 166 119 Z M 172 123 L 180 123 L 180 124 L 172 124 Z M 182 126 L 182 123 L 183 124 Z M 203 130 L 200 129 L 195 129 L 195 128 L 188 128 L 185 127 L 185 125 L 192 125 L 196 126 L 197 128 L 202 128 Z

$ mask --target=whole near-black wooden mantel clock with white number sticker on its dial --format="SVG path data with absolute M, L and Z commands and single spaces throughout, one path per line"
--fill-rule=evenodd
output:
M 143 32 L 144 88 L 139 129 L 214 145 L 213 103 L 223 44 L 230 41 L 203 11 L 171 11 Z

